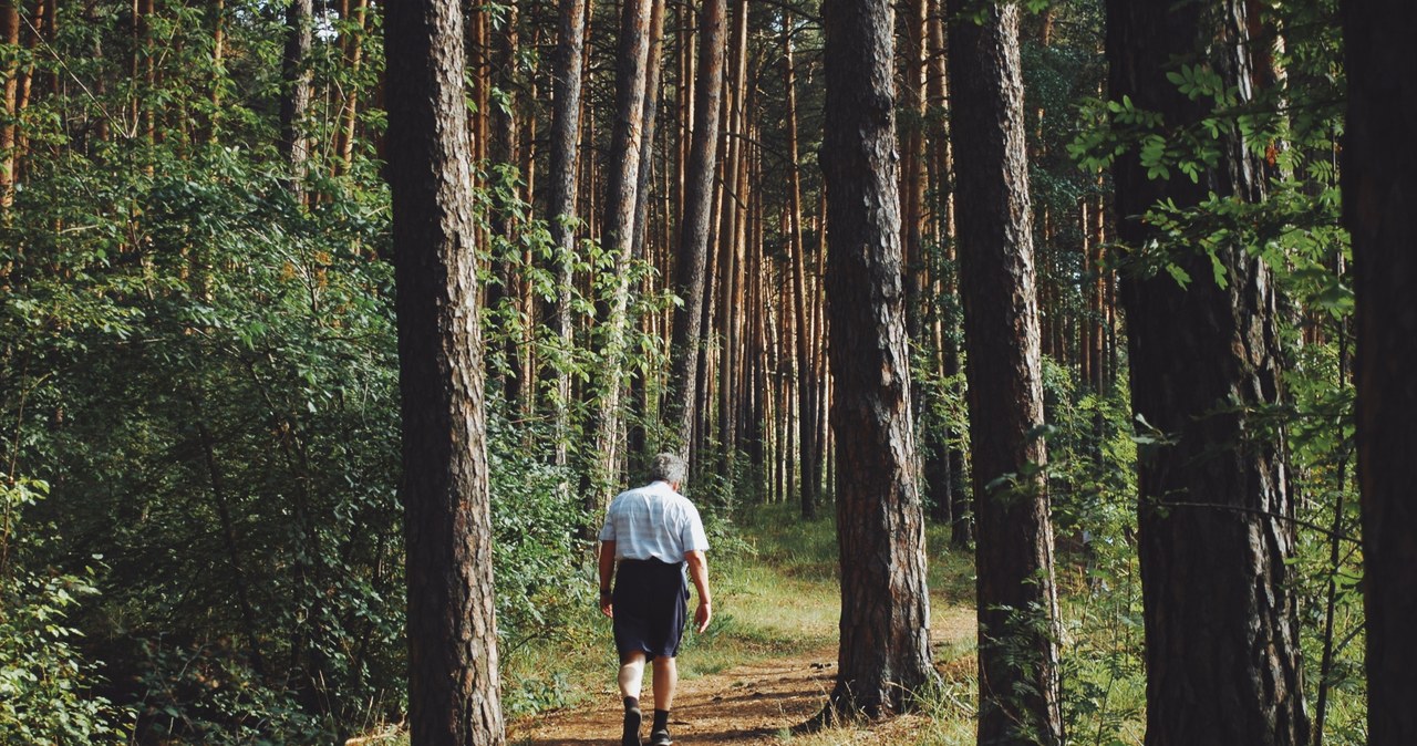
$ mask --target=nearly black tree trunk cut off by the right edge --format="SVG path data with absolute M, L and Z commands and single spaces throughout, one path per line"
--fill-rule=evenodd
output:
M 1357 478 L 1367 619 L 1367 743 L 1417 742 L 1417 34 L 1399 0 L 1343 3 L 1343 218 L 1357 296 Z

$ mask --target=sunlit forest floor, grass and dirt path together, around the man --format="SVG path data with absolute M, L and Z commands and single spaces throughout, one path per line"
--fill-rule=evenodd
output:
M 829 520 L 803 524 L 774 507 L 741 525 L 740 546 L 718 555 L 714 624 L 690 636 L 679 657 L 679 692 L 670 718 L 674 743 L 837 746 L 972 743 L 975 684 L 973 568 L 930 532 L 931 645 L 942 685 L 922 712 L 874 723 L 845 723 L 812 735 L 802 725 L 822 712 L 836 678 L 836 534 Z M 615 688 L 609 623 L 595 674 L 577 677 L 584 696 L 571 706 L 513 719 L 512 746 L 616 746 L 622 705 Z M 543 660 L 587 668 L 585 661 Z M 650 675 L 642 706 L 649 719 Z M 648 740 L 648 722 L 643 736 Z

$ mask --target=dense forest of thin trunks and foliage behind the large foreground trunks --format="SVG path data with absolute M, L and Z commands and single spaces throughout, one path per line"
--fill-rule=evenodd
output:
M 998 8 L 894 4 L 911 494 L 962 558 L 989 545 L 982 490 L 1046 495 L 1039 587 L 1056 627 L 1022 638 L 1053 645 L 1043 678 L 1068 732 L 1124 743 L 1145 718 L 1117 705 L 1158 672 L 1142 640 L 1163 623 L 1145 617 L 1144 582 L 1189 609 L 1179 624 L 1204 626 L 1229 617 L 1192 589 L 1243 565 L 1272 580 L 1258 587 L 1270 621 L 1295 624 L 1270 661 L 1302 667 L 1278 684 L 1301 688 L 1285 695 L 1302 694 L 1291 733 L 1365 743 L 1339 8 L 1212 4 L 1247 14 L 1230 40 L 1241 71 L 1173 55 L 1159 85 L 1128 78 L 1110 47 L 1170 48 L 1165 21 L 1119 41 L 1125 13 L 1102 0 L 1022 4 L 1020 215 L 1041 352 L 1026 435 L 1047 457 L 986 477 L 975 446 L 998 436 L 969 402 L 1006 389 L 966 382 L 971 355 L 990 352 L 966 344 L 965 311 L 988 300 L 961 300 L 983 270 L 961 280 L 959 229 L 982 231 L 968 221 L 988 205 L 956 188 L 956 167 L 976 168 L 986 147 L 969 137 L 988 127 L 952 102 L 988 74 L 956 57 L 988 47 L 969 34 L 998 28 Z M 385 6 L 0 0 L 0 740 L 329 743 L 404 721 Z M 690 454 L 716 562 L 751 556 L 740 524 L 754 515 L 849 515 L 819 163 L 840 130 L 825 126 L 819 6 L 465 3 L 509 716 L 574 698 L 536 655 L 591 644 L 588 536 L 655 450 Z M 1241 161 L 1250 181 L 1214 176 Z M 1146 231 L 1129 229 L 1142 214 Z M 1257 286 L 1268 302 L 1244 296 Z M 1244 296 L 1229 321 L 1190 316 L 1227 289 Z M 1199 401 L 1186 392 L 1210 381 L 1206 364 L 1229 369 L 1210 351 L 1233 345 L 1186 347 L 1206 324 L 1263 337 L 1238 364 L 1263 384 L 1148 419 L 1152 402 Z M 1197 446 L 1200 415 L 1229 425 Z M 1146 470 L 1176 447 L 1192 450 Z M 1213 471 L 1207 459 L 1258 463 L 1241 473 L 1271 493 L 1162 505 L 1168 480 Z M 1139 542 L 1139 522 L 1187 511 L 1275 546 L 1209 549 L 1229 528 L 1204 521 L 1165 529 L 1180 548 Z M 1214 566 L 1144 578 L 1141 553 L 1187 545 Z M 1270 623 L 1264 603 L 1234 603 Z M 1030 665 L 1027 650 L 1005 655 Z M 1032 726 L 1050 742 L 1049 723 Z

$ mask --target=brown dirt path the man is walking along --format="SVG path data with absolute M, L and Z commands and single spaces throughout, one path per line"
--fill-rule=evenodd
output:
M 938 602 L 938 599 L 935 599 Z M 931 607 L 931 641 L 937 665 L 944 651 L 972 648 L 975 612 L 961 606 Z M 786 730 L 822 711 L 836 679 L 836 648 L 767 658 L 707 674 L 680 678 L 670 716 L 676 746 L 699 743 L 782 743 Z M 972 665 L 972 654 L 948 668 Z M 645 681 L 645 719 L 649 721 L 649 677 Z M 606 694 L 594 706 L 540 713 L 510 723 L 513 746 L 619 746 L 619 696 Z M 836 732 L 829 743 L 910 743 L 924 715 L 907 715 L 862 729 Z M 649 728 L 642 730 L 648 739 Z M 798 739 L 794 739 L 795 742 Z M 823 742 L 826 743 L 826 742 Z

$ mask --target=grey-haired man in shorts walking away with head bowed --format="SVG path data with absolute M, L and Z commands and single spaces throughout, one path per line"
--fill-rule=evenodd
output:
M 655 665 L 655 722 L 650 746 L 667 746 L 669 708 L 674 702 L 679 668 L 674 655 L 684 631 L 689 610 L 689 578 L 699 590 L 694 626 L 701 633 L 713 617 L 708 593 L 708 562 L 699 508 L 679 486 L 684 481 L 684 461 L 673 453 L 655 456 L 650 483 L 626 490 L 611 501 L 601 529 L 601 613 L 614 620 L 615 648 L 619 653 L 619 688 L 625 698 L 625 732 L 621 743 L 640 746 L 643 715 L 639 692 L 645 679 L 645 661 Z M 611 579 L 615 586 L 611 590 Z

